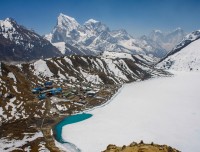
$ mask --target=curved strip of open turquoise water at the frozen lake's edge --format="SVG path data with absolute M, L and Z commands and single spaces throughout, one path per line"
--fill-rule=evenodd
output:
M 73 124 L 73 123 L 77 123 L 77 122 L 86 120 L 90 117 L 92 117 L 92 114 L 82 113 L 82 114 L 72 115 L 72 116 L 69 116 L 69 117 L 66 117 L 65 119 L 63 119 L 61 122 L 59 122 L 54 127 L 56 140 L 60 143 L 67 143 L 67 141 L 64 141 L 62 139 L 62 127 L 65 125 L 68 125 L 68 124 Z

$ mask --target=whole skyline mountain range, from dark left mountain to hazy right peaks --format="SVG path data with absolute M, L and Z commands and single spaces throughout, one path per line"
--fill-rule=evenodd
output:
M 123 29 L 110 30 L 94 19 L 80 25 L 74 18 L 61 13 L 52 33 L 43 38 L 7 18 L 0 20 L 0 60 L 30 61 L 72 54 L 98 55 L 104 51 L 161 58 L 183 35 L 181 29 L 167 34 L 155 30 L 150 36 L 134 38 Z

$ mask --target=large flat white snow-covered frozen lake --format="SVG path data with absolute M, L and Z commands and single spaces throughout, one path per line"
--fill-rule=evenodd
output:
M 183 152 L 200 149 L 200 73 L 176 73 L 125 85 L 85 121 L 63 127 L 63 139 L 83 152 L 143 140 Z

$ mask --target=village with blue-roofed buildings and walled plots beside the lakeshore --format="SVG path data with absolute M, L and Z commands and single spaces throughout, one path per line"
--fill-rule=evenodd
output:
M 87 108 L 101 105 L 118 89 L 113 85 L 94 85 L 92 83 L 79 83 L 72 85 L 63 83 L 58 86 L 53 81 L 45 81 L 31 91 L 36 100 L 49 102 L 51 114 L 74 113 Z

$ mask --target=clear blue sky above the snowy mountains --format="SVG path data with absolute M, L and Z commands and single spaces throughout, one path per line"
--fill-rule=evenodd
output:
M 41 35 L 51 32 L 59 13 L 80 24 L 93 18 L 133 36 L 200 29 L 200 0 L 0 0 L 0 19 L 12 17 Z

